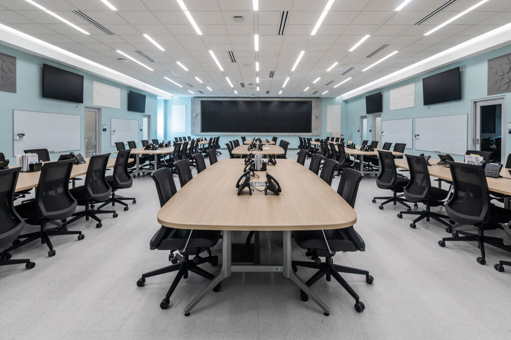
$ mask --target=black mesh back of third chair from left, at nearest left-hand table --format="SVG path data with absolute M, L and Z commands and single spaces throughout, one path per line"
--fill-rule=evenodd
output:
M 85 192 L 91 200 L 104 202 L 110 198 L 112 188 L 105 179 L 110 154 L 92 156 L 85 175 Z

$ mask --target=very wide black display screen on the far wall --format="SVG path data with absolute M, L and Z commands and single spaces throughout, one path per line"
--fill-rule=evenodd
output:
M 312 101 L 201 101 L 202 132 L 312 132 Z

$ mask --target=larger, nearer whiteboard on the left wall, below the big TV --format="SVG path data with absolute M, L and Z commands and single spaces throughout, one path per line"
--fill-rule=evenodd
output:
M 14 110 L 13 121 L 13 136 L 25 134 L 24 139 L 14 139 L 14 156 L 27 149 L 80 150 L 80 115 Z

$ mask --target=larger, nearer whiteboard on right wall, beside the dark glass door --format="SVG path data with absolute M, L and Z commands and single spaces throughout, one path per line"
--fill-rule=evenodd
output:
M 467 151 L 467 115 L 415 118 L 415 150 L 464 155 Z

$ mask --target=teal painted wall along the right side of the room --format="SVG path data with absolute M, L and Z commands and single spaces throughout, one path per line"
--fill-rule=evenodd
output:
M 456 62 L 451 65 L 435 69 L 434 71 L 430 71 L 425 75 L 415 77 L 403 81 L 401 83 L 388 86 L 346 101 L 347 109 L 346 140 L 353 139 L 357 143 L 360 141 L 360 133 L 357 132 L 357 128 L 360 126 L 360 116 L 365 115 L 365 95 L 381 91 L 383 94 L 383 112 L 381 113 L 382 120 L 468 114 L 467 148 L 469 149 L 471 145 L 470 132 L 472 129 L 471 101 L 492 97 L 487 95 L 487 70 L 488 70 L 487 61 L 489 59 L 496 58 L 508 53 L 511 53 L 511 45 L 499 48 L 491 52 L 487 52 L 480 56 L 469 58 L 467 60 L 462 60 L 460 62 Z M 422 79 L 458 66 L 460 68 L 461 100 L 457 102 L 440 103 L 431 106 L 424 106 Z M 389 109 L 390 90 L 403 85 L 410 84 L 412 82 L 415 83 L 415 107 L 390 111 Z M 506 95 L 505 96 L 506 112 L 503 112 L 502 116 L 503 119 L 505 119 L 504 122 L 511 123 L 511 95 L 509 93 L 504 93 L 499 94 L 497 96 L 502 95 Z M 367 128 L 369 128 L 373 122 L 372 115 L 371 114 L 367 115 L 367 119 L 368 119 Z M 413 127 L 415 128 L 415 120 L 413 122 Z M 369 132 L 367 132 L 367 135 L 368 137 L 370 136 L 369 140 L 371 140 L 372 135 Z M 413 140 L 413 145 L 407 145 L 406 152 L 414 155 L 418 155 L 424 152 L 420 150 L 415 150 L 414 146 L 415 140 Z M 506 138 L 505 148 L 506 154 L 511 152 L 511 136 Z M 436 155 L 432 152 L 424 153 L 432 155 L 435 158 L 437 158 Z M 455 158 L 458 160 L 463 159 L 462 156 L 457 156 Z

